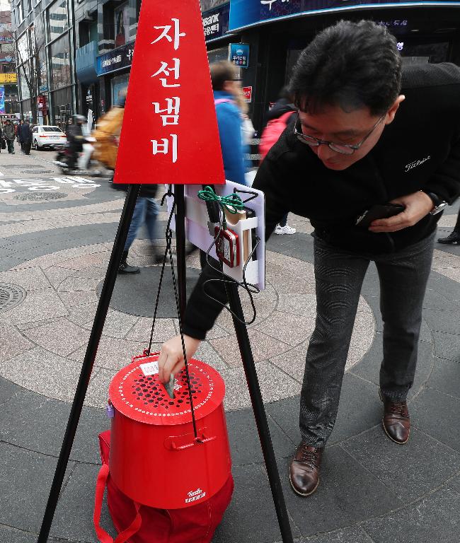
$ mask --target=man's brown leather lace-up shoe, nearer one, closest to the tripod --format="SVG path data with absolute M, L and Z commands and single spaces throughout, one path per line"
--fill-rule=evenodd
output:
M 322 448 L 311 447 L 303 441 L 297 447 L 289 466 L 289 481 L 299 496 L 310 496 L 318 488 L 322 456 Z

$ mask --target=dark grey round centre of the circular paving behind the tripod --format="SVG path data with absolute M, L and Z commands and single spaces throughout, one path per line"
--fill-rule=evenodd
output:
M 128 262 L 129 262 L 128 257 Z M 110 307 L 122 313 L 139 315 L 140 317 L 153 317 L 155 310 L 156 291 L 158 289 L 161 274 L 161 266 L 141 268 L 140 274 L 118 275 L 113 290 Z M 187 295 L 189 296 L 195 286 L 200 271 L 187 268 Z M 177 281 L 177 270 L 176 270 Z M 100 296 L 103 281 L 96 287 L 96 293 Z M 163 319 L 176 318 L 176 299 L 174 298 L 173 279 L 171 268 L 166 267 L 163 276 L 163 285 L 156 316 Z M 147 338 L 148 339 L 148 338 Z

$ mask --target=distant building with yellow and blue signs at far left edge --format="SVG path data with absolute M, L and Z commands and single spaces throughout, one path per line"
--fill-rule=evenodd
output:
M 16 50 L 8 2 L 0 4 L 0 120 L 19 115 Z

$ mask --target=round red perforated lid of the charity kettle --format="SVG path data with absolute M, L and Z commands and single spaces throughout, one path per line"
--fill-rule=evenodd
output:
M 145 424 L 186 424 L 192 420 L 185 370 L 176 375 L 174 399 L 158 377 L 158 354 L 135 357 L 120 370 L 109 387 L 117 411 Z M 195 419 L 212 413 L 224 401 L 225 384 L 214 368 L 191 358 L 188 361 Z

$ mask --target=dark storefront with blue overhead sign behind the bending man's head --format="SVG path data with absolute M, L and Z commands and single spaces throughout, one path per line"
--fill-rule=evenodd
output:
M 241 78 L 255 129 L 289 82 L 301 50 L 340 19 L 386 25 L 396 35 L 403 62 L 460 65 L 459 1 L 202 0 L 202 7 L 210 61 L 230 59 L 231 44 L 233 50 L 238 44 L 249 49 Z

